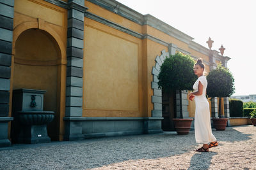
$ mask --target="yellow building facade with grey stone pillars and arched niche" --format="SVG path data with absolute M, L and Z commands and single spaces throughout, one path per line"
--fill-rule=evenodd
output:
M 52 140 L 76 140 L 101 136 L 157 133 L 172 129 L 173 100 L 182 97 L 184 117 L 193 118 L 195 103 L 188 92 L 166 99 L 157 87 L 159 67 L 166 56 L 176 52 L 204 59 L 206 71 L 228 57 L 193 41 L 191 36 L 151 15 L 111 0 L 15 0 L 1 3 L 1 14 L 13 22 L 4 27 L 10 34 L 7 108 L 0 124 L 7 125 L 3 138 L 12 136 L 12 91 L 47 90 L 44 110 L 55 112 L 48 126 Z M 10 22 L 10 21 L 9 21 Z M 5 45 L 5 44 L 4 44 Z M 9 45 L 9 44 L 8 44 Z M 0 58 L 1 61 L 1 58 Z M 10 68 L 10 69 L 9 69 Z M 212 117 L 218 114 L 216 99 L 209 101 Z M 179 106 L 179 103 L 176 103 Z M 229 117 L 228 101 L 222 111 Z M 12 140 L 12 139 L 11 139 Z M 4 139 L 5 144 L 6 139 Z M 4 143 L 3 142 L 3 143 Z

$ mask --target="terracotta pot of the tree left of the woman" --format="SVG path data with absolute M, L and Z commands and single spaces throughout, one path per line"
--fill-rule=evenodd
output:
M 189 134 L 193 118 L 173 118 L 172 120 L 178 134 Z

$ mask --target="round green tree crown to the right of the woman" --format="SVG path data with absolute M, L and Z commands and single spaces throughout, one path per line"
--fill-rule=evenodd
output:
M 228 68 L 218 64 L 217 68 L 207 75 L 208 97 L 229 97 L 234 94 L 234 77 Z

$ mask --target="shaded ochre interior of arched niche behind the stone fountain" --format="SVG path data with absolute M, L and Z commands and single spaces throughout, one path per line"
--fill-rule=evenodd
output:
M 54 111 L 56 116 L 48 127 L 52 140 L 60 134 L 60 105 L 58 95 L 58 61 L 60 47 L 46 31 L 27 29 L 15 41 L 12 89 L 47 90 L 44 96 L 44 110 Z

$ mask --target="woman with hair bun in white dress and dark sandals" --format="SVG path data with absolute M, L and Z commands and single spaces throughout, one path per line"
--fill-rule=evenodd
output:
M 204 143 L 201 148 L 198 148 L 196 152 L 209 152 L 209 148 L 218 146 L 216 138 L 212 134 L 211 118 L 209 103 L 205 97 L 207 80 L 204 76 L 204 64 L 202 59 L 197 59 L 194 66 L 194 73 L 198 76 L 198 79 L 193 85 L 195 92 L 189 94 L 189 99 L 193 101 L 195 98 L 196 111 L 195 111 L 195 138 L 196 143 Z M 210 143 L 208 145 L 208 143 Z

